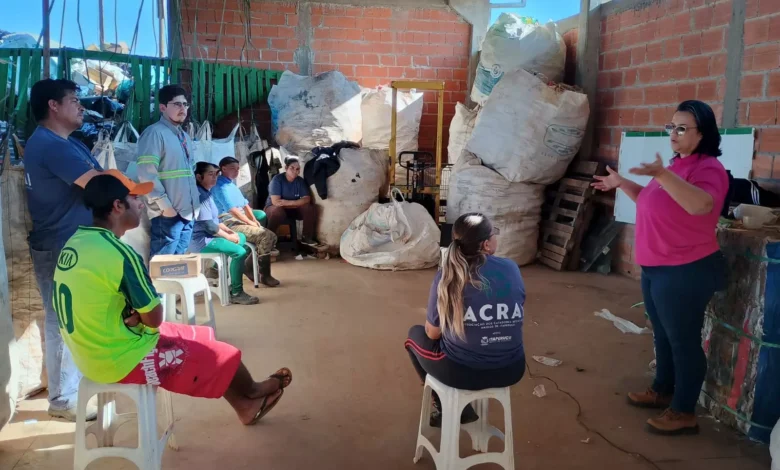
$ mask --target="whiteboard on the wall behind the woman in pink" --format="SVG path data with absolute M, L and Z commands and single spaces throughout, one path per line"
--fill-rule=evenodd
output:
M 752 127 L 721 129 L 720 149 L 723 155 L 718 158 L 734 178 L 749 178 L 753 167 L 754 131 Z M 623 132 L 620 143 L 618 173 L 624 178 L 646 186 L 651 178 L 637 176 L 628 172 L 640 163 L 652 163 L 655 154 L 661 154 L 664 165 L 672 159 L 672 147 L 666 132 Z M 636 223 L 636 204 L 623 191 L 618 190 L 615 197 L 615 220 L 629 224 Z

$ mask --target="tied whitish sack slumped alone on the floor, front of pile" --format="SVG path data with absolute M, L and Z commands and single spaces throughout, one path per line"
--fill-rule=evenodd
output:
M 379 270 L 432 268 L 441 256 L 440 239 L 441 231 L 425 207 L 393 198 L 372 204 L 352 221 L 341 237 L 341 257 Z

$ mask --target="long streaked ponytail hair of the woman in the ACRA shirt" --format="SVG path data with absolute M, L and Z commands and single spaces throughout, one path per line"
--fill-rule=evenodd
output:
M 479 274 L 487 259 L 482 244 L 493 233 L 490 219 L 476 212 L 461 215 L 452 226 L 452 243 L 442 263 L 436 306 L 442 328 L 461 339 L 465 338 L 463 290 L 467 283 L 479 288 L 486 282 Z

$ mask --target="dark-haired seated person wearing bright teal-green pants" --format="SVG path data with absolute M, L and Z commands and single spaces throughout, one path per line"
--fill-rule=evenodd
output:
M 249 249 L 246 236 L 236 233 L 219 222 L 219 212 L 211 196 L 211 188 L 217 184 L 217 165 L 198 162 L 195 165 L 195 180 L 200 195 L 200 213 L 195 219 L 190 241 L 190 253 L 222 253 L 230 262 L 230 303 L 253 305 L 260 300 L 244 292 L 244 263 Z M 227 266 L 226 266 L 227 267 Z

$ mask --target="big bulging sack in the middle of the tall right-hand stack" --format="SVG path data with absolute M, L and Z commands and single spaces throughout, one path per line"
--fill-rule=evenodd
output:
M 585 94 L 518 70 L 496 85 L 466 149 L 513 183 L 552 184 L 579 151 L 589 113 Z

